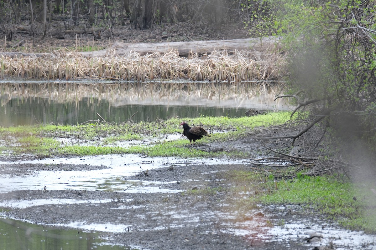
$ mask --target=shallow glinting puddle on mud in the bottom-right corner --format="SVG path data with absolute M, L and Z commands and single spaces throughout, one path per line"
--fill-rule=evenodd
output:
M 280 207 L 284 210 L 284 207 Z M 261 207 L 260 207 L 261 209 Z M 329 225 L 327 222 L 311 219 L 299 219 L 295 223 L 282 223 L 283 225 L 272 225 L 267 215 L 257 216 L 260 210 L 249 211 L 241 221 L 225 223 L 227 229 L 223 232 L 230 232 L 252 240 L 262 242 L 280 242 L 288 244 L 291 241 L 301 242 L 302 245 L 312 247 L 329 246 L 332 242 L 336 250 L 371 250 L 376 246 L 376 235 L 365 234 L 361 231 L 350 231 L 336 225 Z M 256 214 L 256 216 L 255 216 Z M 227 219 L 234 220 L 235 217 L 223 214 Z M 321 235 L 318 241 L 308 243 L 305 238 L 311 235 Z

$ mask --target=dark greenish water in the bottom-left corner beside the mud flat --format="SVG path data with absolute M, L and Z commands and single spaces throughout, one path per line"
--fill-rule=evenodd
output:
M 104 241 L 99 238 L 99 233 L 39 226 L 11 219 L 0 218 L 0 230 L 0 249 L 129 249 L 101 244 Z

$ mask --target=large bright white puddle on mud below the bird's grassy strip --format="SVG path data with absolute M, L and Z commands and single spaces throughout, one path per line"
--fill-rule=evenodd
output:
M 73 158 L 48 158 L 26 160 L 22 162 L 2 162 L 1 164 L 86 164 L 103 165 L 108 168 L 90 171 L 35 171 L 32 175 L 0 177 L 0 193 L 13 190 L 103 190 L 137 193 L 180 192 L 181 190 L 162 189 L 155 185 L 158 182 L 129 180 L 141 169 L 160 168 L 165 166 L 189 164 L 236 164 L 240 160 L 222 159 L 180 159 L 177 157 L 143 157 L 135 154 L 85 156 Z M 0 166 L 1 166 L 0 164 Z M 153 185 L 153 187 L 151 186 Z M 125 190 L 125 191 L 124 191 Z

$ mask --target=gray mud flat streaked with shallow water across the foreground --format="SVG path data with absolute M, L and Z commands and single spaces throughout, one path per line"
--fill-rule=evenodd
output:
M 7 166 L 3 171 L 12 168 L 14 166 Z M 43 164 L 40 169 L 32 165 L 30 172 L 18 174 L 45 171 L 45 168 Z M 86 168 L 92 170 L 103 166 L 87 165 Z M 50 170 L 60 169 L 67 171 L 70 165 L 52 166 Z M 85 165 L 80 165 L 79 169 L 84 170 Z M 311 211 L 247 203 L 247 197 L 253 195 L 252 190 L 234 193 L 230 187 L 235 183 L 224 181 L 226 172 L 236 169 L 247 169 L 247 165 L 170 165 L 149 169 L 147 174 L 138 172 L 124 177 L 152 183 L 148 185 L 155 188 L 185 190 L 183 192 L 14 190 L 0 194 L 0 202 L 6 207 L 3 210 L 6 217 L 83 231 L 102 231 L 108 244 L 135 249 L 304 250 L 326 246 L 329 240 L 337 244 L 337 249 L 373 249 L 373 236 L 350 232 L 346 238 L 346 230 L 325 223 L 328 230 L 324 231 L 325 218 L 312 217 Z M 23 202 L 27 205 L 17 207 L 17 203 Z M 281 222 L 284 225 L 280 225 Z M 330 233 L 335 230 L 338 231 L 337 238 Z M 324 239 L 315 244 L 307 243 L 304 238 L 311 231 L 322 233 Z M 350 238 L 355 240 L 346 241 Z

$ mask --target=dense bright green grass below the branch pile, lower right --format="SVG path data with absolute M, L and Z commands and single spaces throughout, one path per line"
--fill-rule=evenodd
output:
M 364 185 L 356 185 L 334 176 L 298 177 L 293 180 L 274 180 L 273 175 L 269 175 L 263 183 L 256 184 L 268 192 L 260 192 L 260 195 L 251 199 L 263 204 L 305 206 L 326 214 L 345 228 L 376 232 L 376 211 L 370 208 L 370 201 L 376 202 L 366 198 L 367 194 L 362 190 Z M 255 180 L 257 177 L 252 178 Z M 368 197 L 370 195 L 368 191 Z

